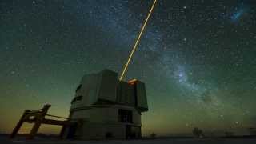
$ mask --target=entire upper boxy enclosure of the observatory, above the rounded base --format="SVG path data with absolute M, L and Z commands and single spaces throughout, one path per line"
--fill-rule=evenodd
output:
M 117 73 L 110 70 L 83 76 L 75 94 L 75 98 L 82 98 L 72 102 L 71 109 L 112 102 L 147 111 L 145 84 L 137 80 L 134 84 L 118 81 L 117 76 Z

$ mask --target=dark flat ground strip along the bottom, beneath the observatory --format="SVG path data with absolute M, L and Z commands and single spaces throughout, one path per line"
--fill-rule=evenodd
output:
M 103 144 L 103 143 L 113 143 L 113 144 L 255 144 L 256 138 L 156 138 L 156 139 L 144 139 L 144 140 L 104 140 L 104 141 L 67 141 L 67 140 L 56 140 L 56 139 L 34 139 L 26 141 L 24 139 L 14 139 L 10 140 L 9 138 L 2 137 L 0 138 L 1 144 L 25 144 L 25 143 L 35 143 L 35 144 Z

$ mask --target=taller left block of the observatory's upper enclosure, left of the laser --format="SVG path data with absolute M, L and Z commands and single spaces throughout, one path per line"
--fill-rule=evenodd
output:
M 115 102 L 117 77 L 118 75 L 110 70 L 83 76 L 75 94 L 75 97 L 82 96 L 82 100 L 72 103 L 71 108 L 91 106 L 99 100 Z

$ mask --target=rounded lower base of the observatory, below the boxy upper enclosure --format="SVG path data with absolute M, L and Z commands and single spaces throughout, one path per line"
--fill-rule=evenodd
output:
M 120 110 L 130 111 L 131 122 L 121 118 Z M 131 106 L 90 107 L 71 112 L 77 125 L 66 128 L 64 138 L 70 139 L 136 139 L 141 138 L 141 115 Z M 71 122 L 72 122 L 71 121 Z

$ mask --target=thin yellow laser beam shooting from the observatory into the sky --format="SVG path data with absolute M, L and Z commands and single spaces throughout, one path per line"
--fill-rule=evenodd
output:
M 145 29 L 145 27 L 146 27 L 146 23 L 148 22 L 148 20 L 149 20 L 149 18 L 150 18 L 150 15 L 151 15 L 151 13 L 152 13 L 152 11 L 153 11 L 153 9 L 154 9 L 154 6 L 155 6 L 155 3 L 156 3 L 156 2 L 157 2 L 157 0 L 154 0 L 154 3 L 153 3 L 153 5 L 151 6 L 151 9 L 150 9 L 149 14 L 147 14 L 146 20 L 145 20 L 145 22 L 144 22 L 144 24 L 143 24 L 143 26 L 142 26 L 142 30 L 141 30 L 140 33 L 138 34 L 138 38 L 137 38 L 137 40 L 136 40 L 136 42 L 135 42 L 135 44 L 134 44 L 133 49 L 132 49 L 131 52 L 130 52 L 130 55 L 129 55 L 129 58 L 128 58 L 127 62 L 126 62 L 126 65 L 124 66 L 124 68 L 123 68 L 123 70 L 122 70 L 122 74 L 121 74 L 121 76 L 120 76 L 120 78 L 119 78 L 120 81 L 122 81 L 122 78 L 123 78 L 124 75 L 126 74 L 128 65 L 130 64 L 130 60 L 131 60 L 131 58 L 132 58 L 132 56 L 133 56 L 133 54 L 134 54 L 134 51 L 135 51 L 136 48 L 137 48 L 138 42 L 140 41 L 140 39 L 141 39 L 141 37 L 142 37 L 142 33 L 143 33 L 143 31 L 144 31 L 144 29 Z

